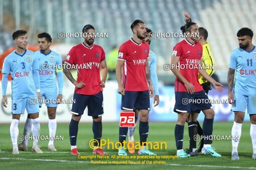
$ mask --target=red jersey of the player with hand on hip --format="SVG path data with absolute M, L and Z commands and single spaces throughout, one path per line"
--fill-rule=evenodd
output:
M 78 94 L 93 95 L 103 89 L 100 87 L 100 62 L 105 59 L 105 52 L 99 45 L 86 46 L 83 42 L 73 46 L 65 60 L 67 64 L 76 65 L 77 82 L 84 82 L 83 88 L 75 87 Z

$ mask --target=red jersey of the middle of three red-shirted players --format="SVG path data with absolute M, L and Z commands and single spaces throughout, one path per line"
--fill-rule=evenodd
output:
M 119 47 L 118 59 L 124 60 L 122 85 L 126 91 L 145 91 L 149 89 L 146 78 L 146 61 L 149 56 L 149 44 L 137 43 L 133 38 Z

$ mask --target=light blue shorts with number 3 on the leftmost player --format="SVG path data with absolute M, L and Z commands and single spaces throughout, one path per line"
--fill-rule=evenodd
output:
M 37 96 L 12 99 L 13 114 L 23 114 L 25 112 L 25 108 L 29 114 L 39 112 Z

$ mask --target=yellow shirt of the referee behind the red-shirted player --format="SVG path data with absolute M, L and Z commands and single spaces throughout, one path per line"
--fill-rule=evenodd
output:
M 202 56 L 202 64 L 204 66 L 205 71 L 211 76 L 214 73 L 214 65 L 215 61 L 211 54 L 211 48 L 208 42 L 203 45 L 203 56 Z M 198 75 L 199 83 L 202 84 L 207 82 L 207 80 L 201 75 Z

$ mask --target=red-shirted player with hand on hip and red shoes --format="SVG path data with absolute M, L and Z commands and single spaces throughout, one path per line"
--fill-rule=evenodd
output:
M 73 78 L 67 66 L 63 69 L 67 78 L 75 85 L 73 97 L 75 103 L 72 104 L 72 119 L 69 124 L 71 154 L 79 154 L 76 147 L 78 123 L 86 106 L 88 107 L 88 115 L 92 116 L 92 131 L 94 139 L 97 140 L 97 142 L 94 142 L 92 153 L 106 154 L 100 148 L 102 136 L 101 116 L 104 113 L 102 88 L 105 87 L 107 75 L 105 52 L 101 46 L 93 44 L 95 29 L 92 25 L 85 25 L 82 32 L 87 35 L 84 37 L 84 42 L 73 46 L 65 60 L 65 64 L 76 65 L 77 79 Z M 100 79 L 100 68 L 102 79 Z

